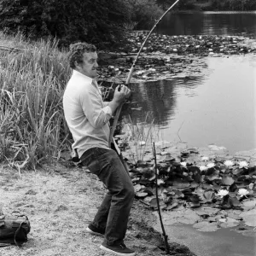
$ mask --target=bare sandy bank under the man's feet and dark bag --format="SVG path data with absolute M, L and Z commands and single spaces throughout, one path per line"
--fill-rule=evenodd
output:
M 63 165 L 65 164 L 65 165 Z M 32 226 L 22 247 L 0 247 L 4 256 L 112 255 L 99 247 L 103 238 L 85 232 L 106 189 L 97 177 L 70 162 L 55 163 L 40 170 L 21 171 L 0 166 L 0 195 L 3 213 L 25 213 Z M 154 230 L 156 218 L 142 201 L 131 210 L 125 244 L 137 255 L 166 254 L 162 236 Z M 176 256 L 195 256 L 188 247 L 170 241 Z

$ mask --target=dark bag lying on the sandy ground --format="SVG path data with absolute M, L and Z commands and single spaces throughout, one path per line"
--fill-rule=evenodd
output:
M 18 247 L 27 241 L 30 223 L 26 215 L 20 214 L 12 217 L 0 216 L 0 247 L 16 245 Z

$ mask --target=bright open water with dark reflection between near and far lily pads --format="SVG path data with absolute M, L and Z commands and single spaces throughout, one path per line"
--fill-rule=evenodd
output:
M 206 76 L 132 84 L 132 104 L 123 114 L 143 121 L 152 112 L 162 139 L 173 143 L 215 143 L 230 154 L 256 148 L 255 63 L 253 55 L 210 57 Z

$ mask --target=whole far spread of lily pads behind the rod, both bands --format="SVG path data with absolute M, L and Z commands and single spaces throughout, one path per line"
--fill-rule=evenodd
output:
M 116 52 L 100 52 L 99 79 L 120 83 L 126 80 L 137 52 L 148 32 L 131 32 L 128 42 Z M 256 52 L 243 37 L 167 36 L 153 33 L 137 60 L 132 82 L 200 75 L 201 56 L 241 55 Z M 192 72 L 191 72 L 192 71 Z M 117 73 L 120 73 L 117 76 Z

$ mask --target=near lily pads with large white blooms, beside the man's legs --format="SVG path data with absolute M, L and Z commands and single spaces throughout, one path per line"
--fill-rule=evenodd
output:
M 201 231 L 256 227 L 256 166 L 241 158 L 204 156 L 196 148 L 179 154 L 168 151 L 158 151 L 157 166 L 147 150 L 145 158 L 136 163 L 128 150 L 124 154 L 137 198 L 154 210 L 157 183 L 166 224 L 194 224 Z

